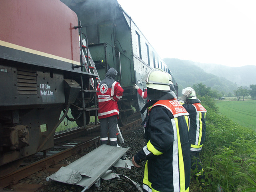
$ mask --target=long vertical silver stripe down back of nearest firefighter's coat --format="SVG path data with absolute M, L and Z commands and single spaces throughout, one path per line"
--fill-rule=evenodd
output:
M 177 127 L 175 123 L 175 119 L 171 119 L 173 134 L 174 134 L 174 142 L 172 148 L 172 173 L 173 178 L 173 191 L 180 191 L 180 170 L 179 170 L 179 154 L 178 154 L 178 136 L 177 136 Z

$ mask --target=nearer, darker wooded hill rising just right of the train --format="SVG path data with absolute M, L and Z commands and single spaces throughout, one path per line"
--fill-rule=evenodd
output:
M 188 86 L 192 87 L 193 84 L 200 82 L 205 84 L 207 87 L 211 87 L 212 90 L 218 90 L 223 95 L 233 93 L 233 90 L 238 88 L 235 82 L 231 82 L 226 78 L 205 72 L 196 62 L 176 58 L 164 58 L 164 62 L 172 71 L 174 78 L 178 82 L 179 94 L 183 88 Z

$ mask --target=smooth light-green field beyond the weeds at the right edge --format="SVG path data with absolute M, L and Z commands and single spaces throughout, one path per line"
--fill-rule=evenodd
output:
M 216 106 L 222 115 L 256 130 L 256 100 L 216 100 Z

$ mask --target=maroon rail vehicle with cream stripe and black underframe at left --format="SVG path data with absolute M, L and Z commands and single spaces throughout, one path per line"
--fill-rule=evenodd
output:
M 3 176 L 53 146 L 62 109 L 82 103 L 82 84 L 90 89 L 95 75 L 80 68 L 78 18 L 60 0 L 1 0 L 0 18 Z

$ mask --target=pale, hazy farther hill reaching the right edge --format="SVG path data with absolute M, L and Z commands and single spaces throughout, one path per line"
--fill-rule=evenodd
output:
M 217 64 L 195 63 L 206 73 L 214 74 L 218 77 L 226 78 L 240 86 L 249 87 L 250 84 L 256 84 L 256 66 L 246 65 L 242 67 L 229 67 Z

